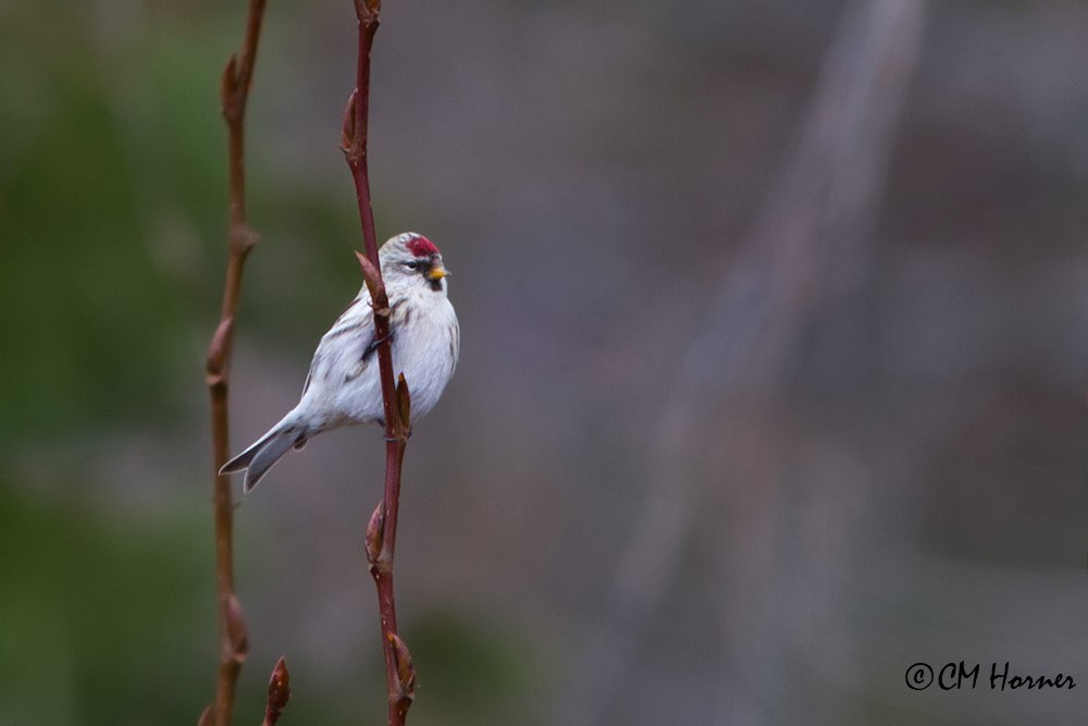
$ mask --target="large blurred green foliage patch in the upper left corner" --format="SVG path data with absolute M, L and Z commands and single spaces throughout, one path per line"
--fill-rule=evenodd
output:
M 171 209 L 207 238 L 224 206 L 214 71 L 207 53 L 180 52 L 207 39 L 181 27 L 111 53 L 88 8 L 53 5 L 22 5 L 0 38 L 2 335 L 29 364 L 8 357 L 14 374 L 0 377 L 9 440 L 166 418 L 195 361 L 185 291 L 153 239 Z

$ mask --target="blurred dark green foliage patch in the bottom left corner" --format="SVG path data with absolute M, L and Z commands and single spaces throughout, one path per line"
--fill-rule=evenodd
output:
M 118 521 L 0 482 L 0 721 L 194 721 L 213 657 L 193 638 L 212 602 L 194 525 Z

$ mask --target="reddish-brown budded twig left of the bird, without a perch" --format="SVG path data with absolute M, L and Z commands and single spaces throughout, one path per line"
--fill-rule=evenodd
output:
M 248 643 L 242 605 L 234 594 L 234 503 L 231 478 L 219 470 L 230 454 L 230 381 L 231 353 L 234 347 L 234 316 L 238 309 L 242 270 L 246 256 L 257 242 L 256 233 L 246 224 L 245 118 L 246 100 L 257 59 L 257 42 L 264 0 L 250 0 L 242 56 L 232 54 L 223 71 L 220 85 L 223 119 L 227 128 L 228 165 L 231 175 L 231 226 L 226 282 L 219 327 L 208 349 L 207 381 L 211 396 L 212 470 L 214 475 L 215 512 L 215 581 L 219 613 L 219 675 L 215 680 L 215 702 L 210 712 L 215 726 L 230 726 L 234 709 L 234 692 L 238 672 L 246 659 Z M 208 712 L 206 712 L 206 717 Z M 203 722 L 205 718 L 201 718 Z

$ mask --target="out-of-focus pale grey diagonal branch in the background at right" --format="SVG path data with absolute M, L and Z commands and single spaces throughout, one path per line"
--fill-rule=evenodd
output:
M 710 299 L 702 327 L 679 357 L 660 416 L 651 482 L 615 575 L 607 616 L 588 639 L 581 667 L 554 723 L 602 721 L 635 663 L 635 645 L 652 616 L 678 596 L 681 557 L 705 496 L 692 467 L 700 460 L 692 443 L 698 441 L 696 432 L 713 421 L 743 419 L 744 430 L 757 429 L 753 435 L 766 438 L 768 424 L 752 413 L 772 410 L 780 402 L 791 353 L 811 324 L 813 310 L 837 292 L 841 268 L 854 263 L 871 243 L 927 4 L 855 0 L 844 9 L 799 139 L 784 157 L 738 259 Z M 722 419 L 721 401 L 727 398 L 731 410 Z M 737 459 L 743 456 L 740 446 L 732 450 Z M 768 520 L 776 493 L 759 483 L 746 484 L 762 494 L 752 497 L 756 504 L 747 505 L 744 518 L 768 538 L 775 531 Z M 737 555 L 739 567 L 754 570 L 762 564 L 759 553 L 769 547 L 752 537 L 742 539 L 749 546 Z M 746 617 L 732 617 L 743 622 L 738 631 L 757 640 L 766 636 L 769 598 L 741 589 L 730 591 L 731 606 L 735 610 L 743 599 L 755 604 L 744 611 Z M 746 656 L 753 682 L 769 682 L 754 649 L 734 643 L 731 648 Z

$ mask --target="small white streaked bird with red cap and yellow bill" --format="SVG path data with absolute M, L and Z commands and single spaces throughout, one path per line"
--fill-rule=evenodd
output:
M 457 315 L 446 296 L 442 254 L 415 232 L 388 239 L 379 253 L 390 298 L 394 378 L 411 391 L 412 421 L 438 403 L 460 353 Z M 284 454 L 330 429 L 385 426 L 370 292 L 364 284 L 313 353 L 302 395 L 290 411 L 220 473 L 245 471 L 248 492 Z

